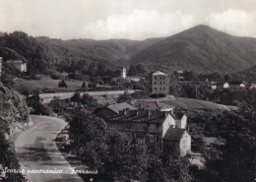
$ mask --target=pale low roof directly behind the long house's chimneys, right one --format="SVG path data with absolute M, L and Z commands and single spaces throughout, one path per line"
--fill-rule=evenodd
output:
M 173 109 L 174 106 L 162 103 L 160 101 L 147 101 L 147 100 L 137 100 L 134 103 L 135 107 L 141 107 L 147 110 L 163 110 L 163 109 Z

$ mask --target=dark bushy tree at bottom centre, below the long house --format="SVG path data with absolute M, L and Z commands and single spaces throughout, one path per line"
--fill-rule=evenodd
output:
M 108 136 L 107 146 L 104 162 L 106 181 L 141 180 L 147 176 L 149 155 L 144 141 L 113 132 Z

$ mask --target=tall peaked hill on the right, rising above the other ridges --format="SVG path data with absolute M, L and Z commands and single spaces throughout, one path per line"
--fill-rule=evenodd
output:
M 201 25 L 161 39 L 135 55 L 135 63 L 165 71 L 237 72 L 256 64 L 256 38 Z

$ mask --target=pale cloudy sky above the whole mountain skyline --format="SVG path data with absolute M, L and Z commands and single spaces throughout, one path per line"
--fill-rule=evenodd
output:
M 256 37 L 255 10 L 256 0 L 0 0 L 0 31 L 143 40 L 204 24 Z

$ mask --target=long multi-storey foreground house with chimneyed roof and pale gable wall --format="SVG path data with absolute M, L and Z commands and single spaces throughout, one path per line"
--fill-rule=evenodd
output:
M 105 115 L 103 119 L 106 121 L 110 130 L 119 131 L 126 133 L 130 137 L 145 140 L 150 150 L 156 153 L 162 152 L 163 139 L 169 128 L 182 131 L 186 130 L 186 117 L 183 120 L 178 120 L 168 112 L 162 112 L 160 110 L 124 109 L 119 114 Z M 179 142 L 177 141 L 177 143 Z M 191 144 L 187 143 L 186 145 L 186 149 L 191 148 Z M 182 150 L 182 153 L 187 152 L 183 152 Z

